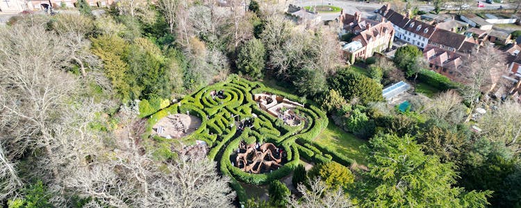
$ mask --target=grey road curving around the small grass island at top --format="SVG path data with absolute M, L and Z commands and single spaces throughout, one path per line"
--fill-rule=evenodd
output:
M 383 6 L 380 3 L 365 3 L 363 1 L 340 1 L 340 0 L 299 0 L 293 1 L 292 4 L 297 6 L 319 6 L 319 5 L 331 5 L 338 6 L 344 9 L 344 12 L 347 14 L 354 14 L 354 12 L 362 12 L 363 17 L 370 17 L 374 15 L 374 10 L 377 10 Z M 332 20 L 336 19 L 340 12 L 324 12 L 320 13 L 322 15 L 322 20 Z

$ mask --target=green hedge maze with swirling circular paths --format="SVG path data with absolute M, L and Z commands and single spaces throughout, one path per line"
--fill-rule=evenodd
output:
M 304 118 L 304 122 L 295 126 L 286 125 L 282 119 L 261 110 L 253 96 L 261 93 L 276 94 L 290 101 L 304 103 L 305 107 L 297 106 L 294 110 Z M 313 142 L 322 129 L 326 128 L 328 119 L 326 114 L 315 105 L 300 100 L 298 96 L 265 87 L 262 83 L 231 76 L 225 82 L 204 87 L 192 96 L 185 96 L 179 103 L 174 103 L 151 115 L 149 130 L 158 119 L 168 114 L 190 114 L 201 118 L 201 126 L 191 135 L 183 138 L 183 141 L 185 143 L 205 141 L 209 148 L 208 158 L 217 162 L 222 174 L 232 178 L 231 186 L 237 191 L 239 200 L 245 201 L 247 200 L 245 190 L 238 181 L 267 184 L 272 180 L 278 180 L 291 173 L 299 163 L 300 157 L 312 162 L 334 160 L 345 166 L 352 164 L 351 159 Z M 237 123 L 247 119 L 253 122 L 248 127 L 239 129 Z M 246 144 L 274 144 L 284 150 L 286 156 L 283 158 L 284 163 L 276 170 L 267 173 L 255 174 L 242 171 L 233 166 L 232 162 L 235 161 L 230 157 L 238 150 L 241 141 Z

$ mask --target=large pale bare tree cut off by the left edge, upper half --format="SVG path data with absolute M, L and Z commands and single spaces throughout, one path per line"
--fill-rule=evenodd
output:
M 28 146 L 47 147 L 52 141 L 51 125 L 60 123 L 56 113 L 67 105 L 77 82 L 62 70 L 70 61 L 69 40 L 45 32 L 42 25 L 15 25 L 1 34 L 0 139 L 9 155 L 19 155 Z

